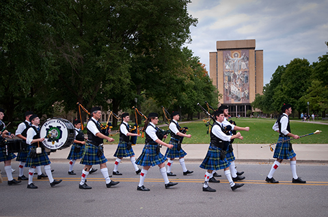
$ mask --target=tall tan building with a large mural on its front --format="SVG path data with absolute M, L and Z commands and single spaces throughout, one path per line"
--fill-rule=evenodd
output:
M 255 39 L 217 41 L 217 51 L 210 52 L 210 78 L 231 116 L 246 116 L 256 94 L 262 94 L 263 50 L 255 49 Z

